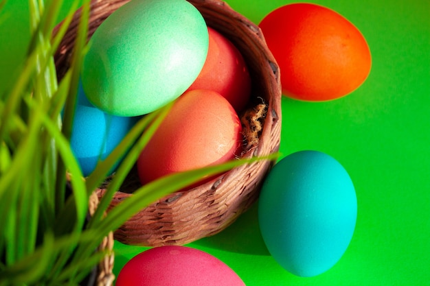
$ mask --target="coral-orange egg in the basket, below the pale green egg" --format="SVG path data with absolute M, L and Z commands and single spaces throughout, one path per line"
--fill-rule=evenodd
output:
M 184 93 L 152 135 L 137 160 L 142 184 L 178 171 L 233 159 L 242 145 L 242 126 L 227 99 L 214 91 Z

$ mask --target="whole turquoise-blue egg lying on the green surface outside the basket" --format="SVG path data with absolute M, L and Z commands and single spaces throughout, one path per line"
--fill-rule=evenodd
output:
M 354 185 L 328 154 L 293 153 L 264 180 L 258 219 L 275 261 L 297 276 L 316 276 L 335 265 L 350 244 L 357 221 Z

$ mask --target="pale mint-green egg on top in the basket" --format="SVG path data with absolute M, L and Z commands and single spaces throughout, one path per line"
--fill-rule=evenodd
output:
M 133 117 L 179 97 L 207 56 L 203 16 L 185 0 L 130 1 L 94 32 L 82 65 L 91 104 Z

